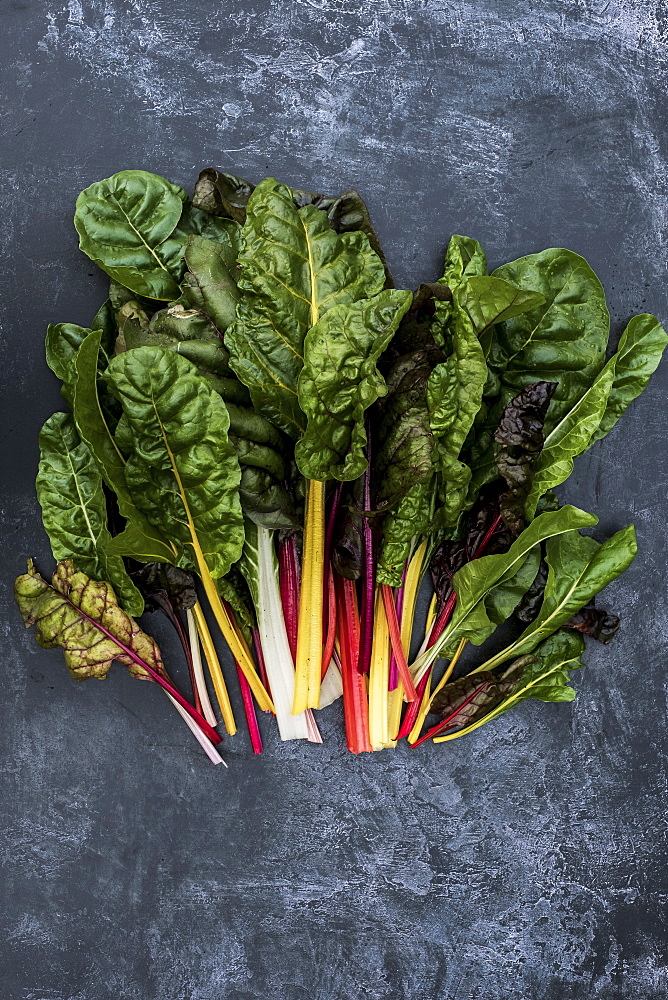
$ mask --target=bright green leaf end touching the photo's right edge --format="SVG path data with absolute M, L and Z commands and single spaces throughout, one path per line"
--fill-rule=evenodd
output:
M 590 445 L 605 437 L 629 403 L 640 395 L 656 371 L 667 343 L 666 331 L 655 316 L 642 313 L 633 317 L 619 341 L 615 355 L 615 377 L 605 413 L 592 435 Z

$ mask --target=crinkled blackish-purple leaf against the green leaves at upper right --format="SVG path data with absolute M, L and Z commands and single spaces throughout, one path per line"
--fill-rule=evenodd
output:
M 526 524 L 524 508 L 545 441 L 545 416 L 556 388 L 556 382 L 527 386 L 508 403 L 494 434 L 494 461 L 508 486 L 501 497 L 501 517 L 515 537 Z

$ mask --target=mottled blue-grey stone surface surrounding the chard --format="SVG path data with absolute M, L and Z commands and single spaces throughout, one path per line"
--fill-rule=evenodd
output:
M 209 164 L 355 185 L 407 287 L 452 232 L 493 264 L 567 246 L 616 337 L 668 318 L 667 35 L 661 0 L 0 0 L 3 1000 L 666 996 L 668 368 L 568 486 L 640 542 L 572 706 L 361 758 L 335 706 L 323 747 L 267 726 L 223 772 L 152 687 L 69 680 L 10 587 L 51 567 L 44 329 L 105 294 L 81 188 Z

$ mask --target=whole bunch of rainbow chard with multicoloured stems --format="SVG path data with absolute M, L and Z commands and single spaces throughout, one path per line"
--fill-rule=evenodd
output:
M 441 278 L 398 290 L 356 192 L 272 178 L 207 169 L 190 199 L 123 171 L 81 193 L 75 225 L 109 297 L 90 328 L 47 332 L 69 405 L 42 429 L 37 476 L 58 564 L 16 582 L 73 677 L 117 660 L 154 681 L 216 763 L 218 716 L 228 734 L 236 721 L 212 620 L 256 753 L 257 708 L 281 739 L 321 742 L 314 713 L 342 698 L 359 753 L 575 697 L 583 636 L 619 624 L 595 596 L 636 543 L 632 526 L 582 534 L 596 517 L 554 488 L 656 369 L 668 338 L 653 316 L 606 360 L 582 257 L 489 274 L 461 236 Z M 178 634 L 187 695 L 145 610 Z M 508 621 L 505 648 L 462 658 Z

